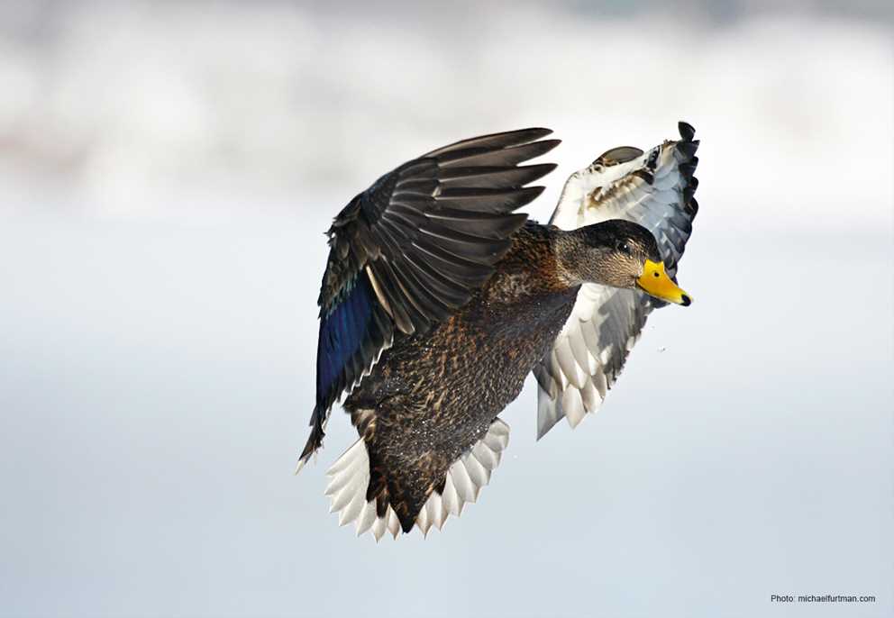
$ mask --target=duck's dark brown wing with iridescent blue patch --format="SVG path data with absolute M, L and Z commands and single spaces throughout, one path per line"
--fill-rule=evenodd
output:
M 494 271 L 527 218 L 514 211 L 555 168 L 518 167 L 555 148 L 549 129 L 459 141 L 389 172 L 354 197 L 329 230 L 320 291 L 316 404 L 301 461 L 323 441 L 329 408 L 396 337 L 452 315 Z

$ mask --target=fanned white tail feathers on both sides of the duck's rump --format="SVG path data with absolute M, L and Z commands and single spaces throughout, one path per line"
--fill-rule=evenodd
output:
M 478 500 L 481 487 L 488 485 L 509 443 L 509 425 L 496 419 L 475 446 L 453 462 L 447 471 L 442 494 L 432 492 L 416 516 L 416 527 L 427 535 L 432 526 L 442 528 L 448 515 L 459 517 L 466 503 Z M 397 538 L 400 522 L 388 505 L 384 517 L 376 513 L 376 503 L 366 501 L 369 487 L 369 455 L 362 438 L 346 450 L 326 473 L 331 477 L 326 495 L 330 496 L 330 513 L 338 513 L 339 525 L 356 522 L 357 535 L 372 532 L 376 541 L 385 532 Z

